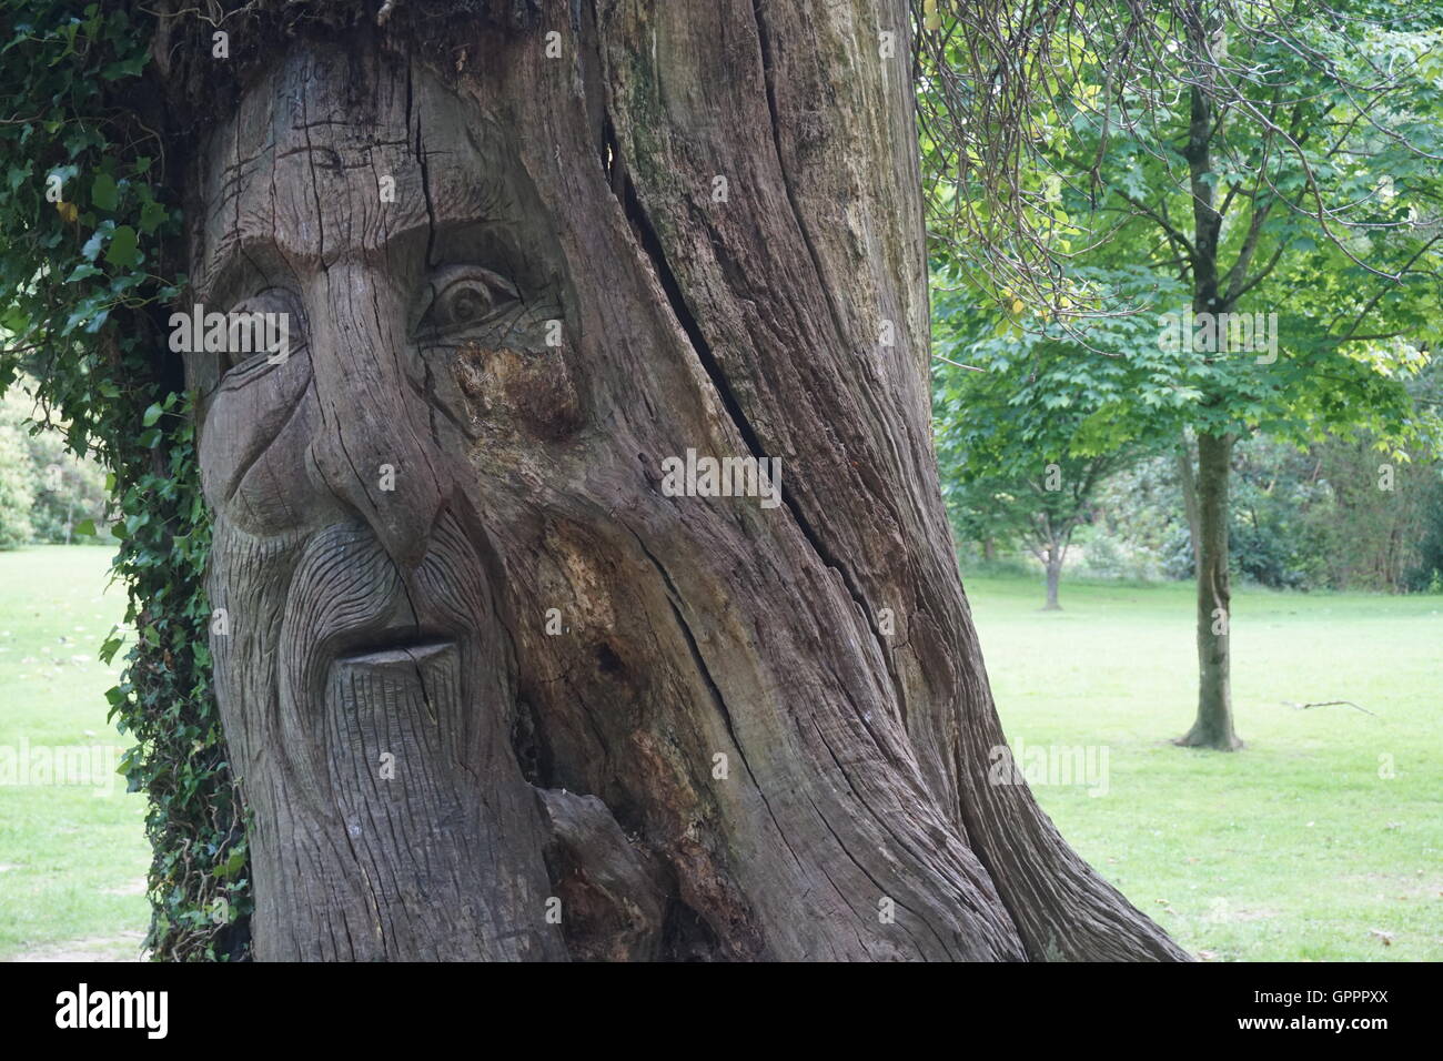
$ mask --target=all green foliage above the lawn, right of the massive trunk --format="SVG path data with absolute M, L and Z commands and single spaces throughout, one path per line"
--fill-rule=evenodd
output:
M 1443 6 L 1330 7 L 1346 13 L 1058 7 L 997 84 L 1003 45 L 945 4 L 919 108 L 937 352 L 984 370 L 934 365 L 964 536 L 1025 536 L 1012 517 L 1036 505 L 1017 472 L 1043 460 L 1075 479 L 1068 459 L 1126 463 L 1189 433 L 1294 453 L 1342 436 L 1398 462 L 1443 445 L 1439 406 L 1413 400 L 1443 339 Z M 1242 10 L 1257 25 L 1237 22 Z M 1189 32 L 1196 17 L 1206 26 Z M 948 117 L 967 120 L 962 133 Z M 1183 325 L 1193 310 L 1276 315 L 1276 344 L 1219 349 Z M 1240 450 L 1240 570 L 1266 585 L 1361 577 L 1320 556 L 1354 549 L 1328 518 L 1362 533 L 1368 512 L 1382 534 L 1384 510 L 1254 478 L 1263 446 Z M 1260 475 L 1302 473 L 1302 458 L 1264 463 Z M 1177 517 L 1144 551 L 1190 570 Z M 1395 572 L 1403 551 L 1374 567 Z

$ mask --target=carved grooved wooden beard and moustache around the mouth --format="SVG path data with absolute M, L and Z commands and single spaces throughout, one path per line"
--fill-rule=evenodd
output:
M 221 515 L 214 556 L 257 957 L 563 957 L 540 857 L 508 855 L 538 852 L 541 826 L 509 748 L 506 637 L 452 511 L 405 573 L 359 523 L 258 538 Z M 258 768 L 267 755 L 281 762 Z

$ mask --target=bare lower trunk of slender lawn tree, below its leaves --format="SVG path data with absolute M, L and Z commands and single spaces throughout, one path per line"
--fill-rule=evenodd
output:
M 1232 690 L 1228 674 L 1228 475 L 1232 436 L 1198 436 L 1196 536 L 1198 559 L 1198 717 L 1177 743 L 1231 752 L 1242 746 L 1232 732 Z

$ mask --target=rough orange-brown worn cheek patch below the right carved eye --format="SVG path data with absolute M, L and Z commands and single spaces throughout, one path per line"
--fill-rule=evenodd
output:
M 582 403 L 561 348 L 535 354 L 468 344 L 452 362 L 452 378 L 478 435 L 519 432 L 558 442 L 580 427 Z

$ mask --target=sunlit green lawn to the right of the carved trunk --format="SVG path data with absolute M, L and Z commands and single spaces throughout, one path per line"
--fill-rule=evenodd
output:
M 1190 586 L 1063 580 L 1040 612 L 1040 580 L 964 580 L 1019 765 L 1107 749 L 1105 794 L 1039 801 L 1188 950 L 1443 959 L 1443 598 L 1235 592 L 1229 755 L 1169 743 L 1196 706 Z M 1375 716 L 1284 703 L 1320 700 Z

